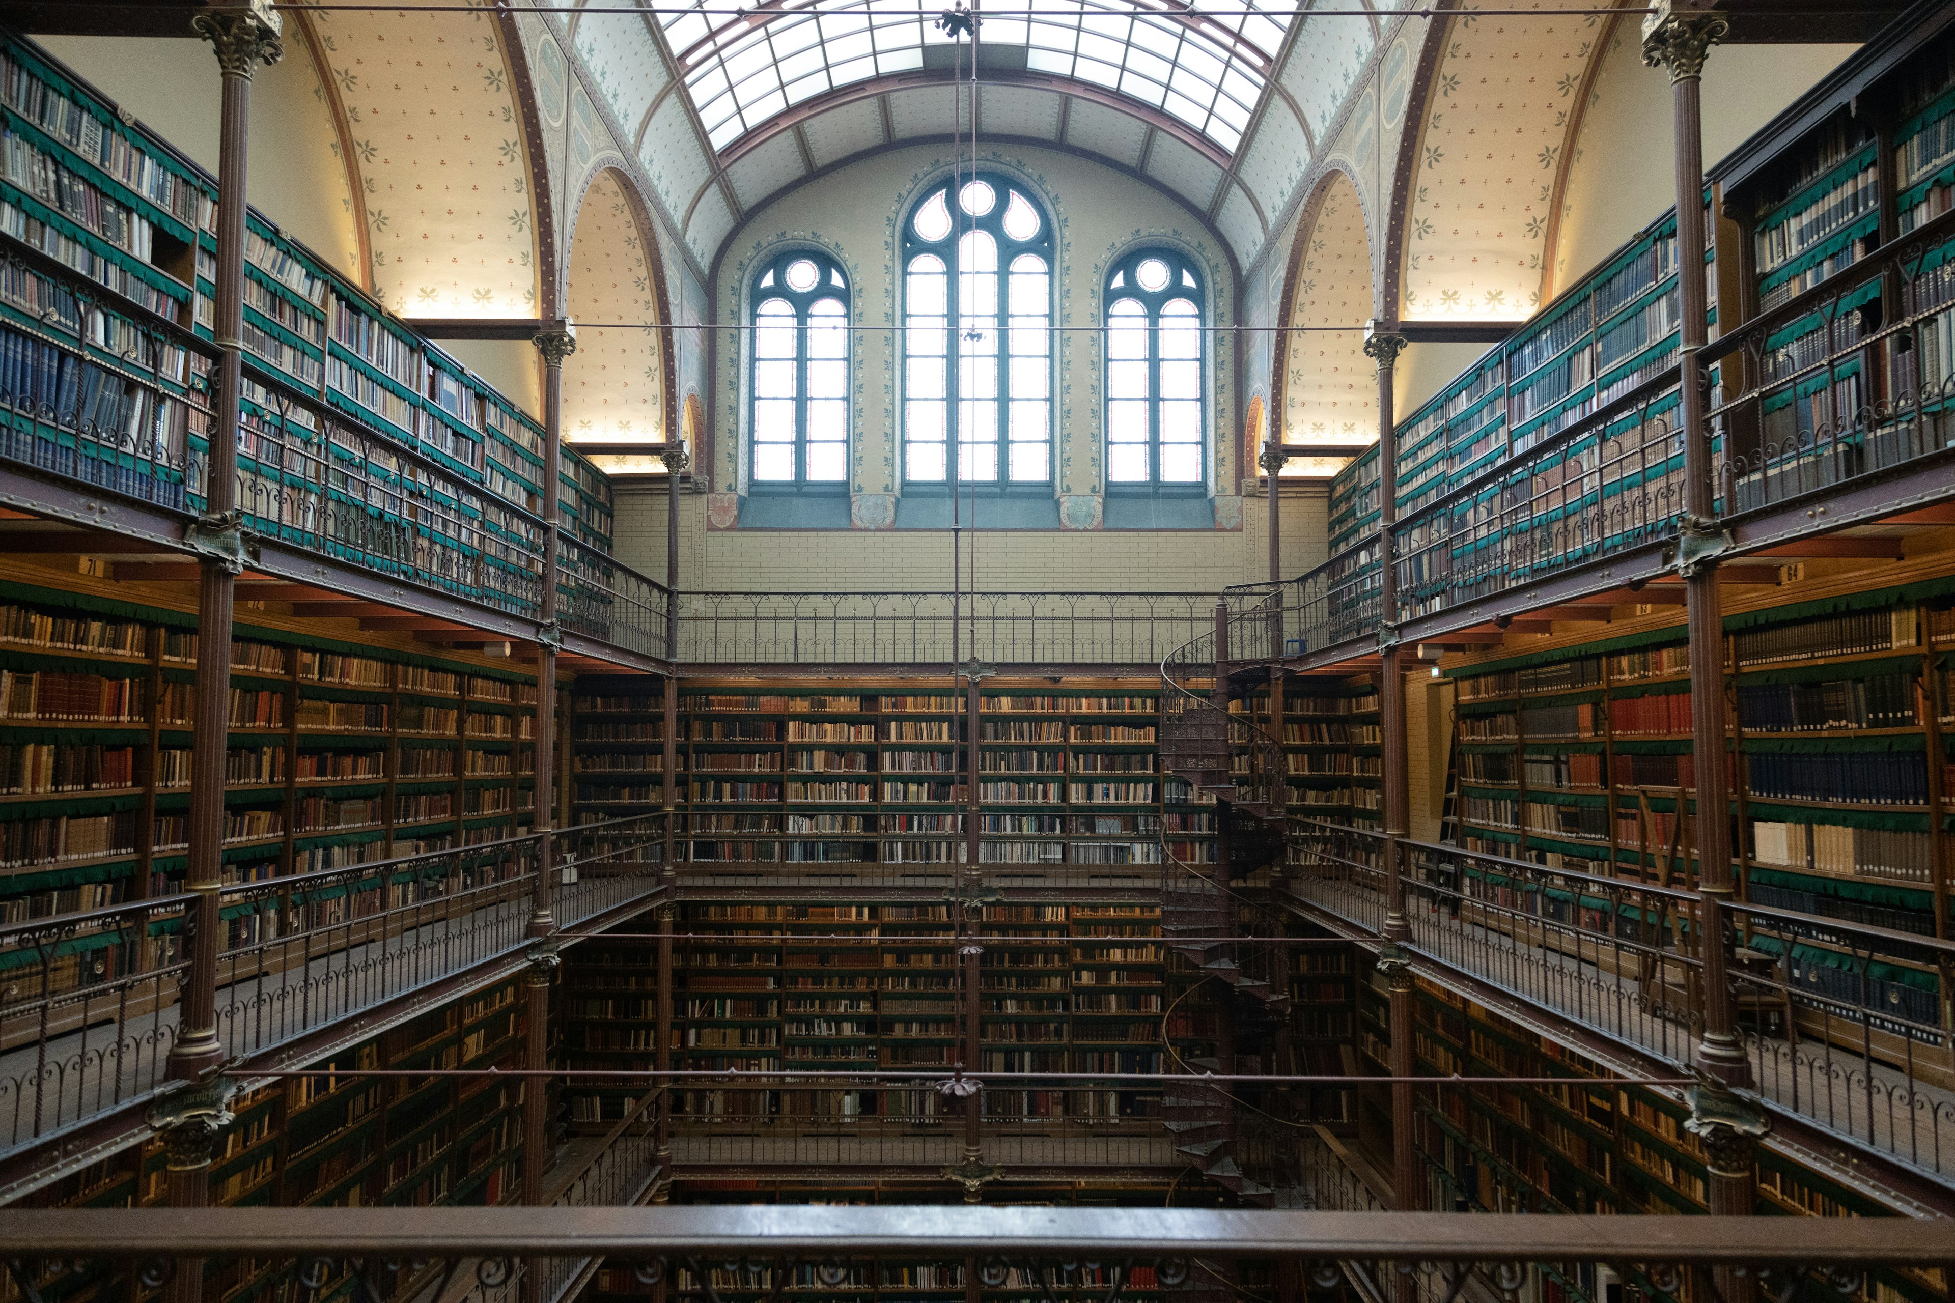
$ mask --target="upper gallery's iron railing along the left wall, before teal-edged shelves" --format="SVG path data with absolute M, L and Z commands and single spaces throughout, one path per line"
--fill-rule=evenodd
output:
M 217 348 L 4 236 L 0 281 L 14 307 L 31 287 L 41 315 L 37 326 L 0 324 L 18 359 L 0 375 L 0 459 L 188 525 L 205 504 Z M 485 617 L 542 617 L 540 516 L 250 354 L 242 399 L 237 506 L 248 545 L 459 598 Z M 569 633 L 665 656 L 663 584 L 567 535 L 559 568 Z

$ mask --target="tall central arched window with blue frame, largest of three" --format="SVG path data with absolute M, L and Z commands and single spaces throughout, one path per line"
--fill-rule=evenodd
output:
M 960 481 L 1050 483 L 1052 219 L 1003 176 L 944 182 L 903 227 L 903 275 L 905 479 L 944 483 L 956 440 Z

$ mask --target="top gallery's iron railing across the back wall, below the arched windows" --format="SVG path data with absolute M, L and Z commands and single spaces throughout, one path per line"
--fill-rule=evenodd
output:
M 1196 592 L 686 592 L 698 664 L 1155 664 L 1208 623 Z M 976 631 L 976 635 L 972 633 Z

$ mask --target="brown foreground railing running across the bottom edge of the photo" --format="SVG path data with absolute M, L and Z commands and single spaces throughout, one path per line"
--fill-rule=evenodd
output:
M 88 1237 L 88 1239 L 84 1239 Z M 733 1303 L 862 1289 L 962 1289 L 1062 1303 L 1214 1297 L 1247 1272 L 1372 1303 L 1533 1297 L 1541 1276 L 1601 1297 L 1599 1272 L 1652 1303 L 1724 1303 L 1718 1268 L 1769 1303 L 1851 1303 L 1904 1280 L 1945 1293 L 1955 1231 L 1879 1217 L 1529 1217 L 1073 1207 L 432 1207 L 0 1211 L 0 1260 L 27 1299 L 94 1283 L 252 1280 L 293 1303 L 368 1291 L 497 1299 L 522 1262 L 602 1260 L 620 1293 Z M 229 1264 L 225 1262 L 229 1258 Z M 1879 1283 L 1877 1283 L 1879 1282 Z M 1593 1291 L 1593 1295 L 1589 1293 Z M 545 1295 L 547 1297 L 547 1295 Z M 1748 1295 L 1750 1297 L 1750 1295 Z

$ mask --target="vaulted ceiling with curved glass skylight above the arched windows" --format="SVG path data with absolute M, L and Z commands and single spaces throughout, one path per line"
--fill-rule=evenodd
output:
M 979 139 L 1050 143 L 1146 178 L 1210 221 L 1245 266 L 1396 2 L 1290 20 L 1290 0 L 1232 0 L 1212 14 L 1185 0 L 997 0 L 983 6 L 976 123 L 952 92 L 952 63 L 970 45 L 954 55 L 909 0 L 698 0 L 643 16 L 579 0 L 594 12 L 567 25 L 700 266 L 798 182 L 974 125 Z

